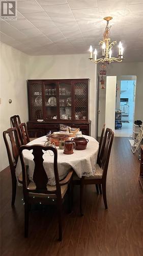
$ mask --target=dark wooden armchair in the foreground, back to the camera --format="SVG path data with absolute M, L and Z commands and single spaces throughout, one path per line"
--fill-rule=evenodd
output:
M 24 164 L 23 150 L 33 150 L 35 169 L 33 175 L 33 182 L 28 179 L 27 169 Z M 55 186 L 48 185 L 48 177 L 43 166 L 43 154 L 46 151 L 52 151 L 53 159 L 53 173 L 55 177 Z M 51 146 L 43 145 L 25 145 L 19 149 L 19 156 L 22 166 L 23 178 L 23 195 L 24 195 L 24 236 L 28 236 L 28 214 L 31 204 L 56 204 L 58 207 L 59 219 L 59 240 L 62 241 L 62 203 L 64 202 L 68 186 L 72 180 L 73 170 L 71 169 L 68 175 L 59 180 L 58 164 L 57 164 L 57 150 Z

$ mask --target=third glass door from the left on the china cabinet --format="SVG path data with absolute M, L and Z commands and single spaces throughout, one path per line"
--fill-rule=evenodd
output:
M 72 87 L 70 82 L 59 83 L 60 119 L 72 119 Z

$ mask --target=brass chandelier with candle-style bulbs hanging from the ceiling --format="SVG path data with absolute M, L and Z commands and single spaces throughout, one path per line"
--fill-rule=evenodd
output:
M 117 44 L 117 41 L 113 41 L 110 42 L 110 38 L 109 38 L 109 32 L 110 32 L 110 28 L 111 26 L 109 25 L 109 20 L 112 19 L 112 17 L 105 17 L 104 20 L 106 20 L 107 25 L 103 34 L 103 40 L 100 40 L 99 45 L 102 45 L 102 58 L 97 59 L 97 50 L 95 49 L 94 53 L 93 53 L 93 48 L 92 46 L 90 46 L 90 60 L 95 62 L 95 63 L 107 63 L 109 64 L 110 62 L 113 61 L 118 61 L 121 62 L 123 60 L 123 46 L 121 44 L 121 41 L 119 42 L 119 57 L 112 57 L 112 47 L 115 46 Z M 94 58 L 93 58 L 93 54 L 94 54 Z

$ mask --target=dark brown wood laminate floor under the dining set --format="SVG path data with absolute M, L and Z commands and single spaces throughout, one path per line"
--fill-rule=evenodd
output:
M 113 142 L 108 175 L 107 203 L 94 185 L 85 187 L 84 216 L 79 216 L 79 188 L 74 190 L 73 213 L 63 211 L 63 241 L 58 242 L 56 209 L 33 210 L 29 236 L 24 238 L 22 189 L 11 207 L 9 170 L 1 172 L 1 255 L 5 256 L 141 256 L 143 255 L 143 193 L 138 182 L 139 160 L 128 138 Z

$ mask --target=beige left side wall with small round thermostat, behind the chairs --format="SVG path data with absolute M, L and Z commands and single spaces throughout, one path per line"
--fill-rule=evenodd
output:
M 27 109 L 27 88 L 26 73 L 28 66 L 28 55 L 23 54 L 15 49 L 1 44 L 1 61 L 0 61 L 0 86 L 1 86 L 1 166 L 3 170 L 9 165 L 6 146 L 3 139 L 3 131 L 10 128 L 10 117 L 20 115 L 21 120 L 28 120 Z M 9 103 L 12 99 L 12 103 Z

